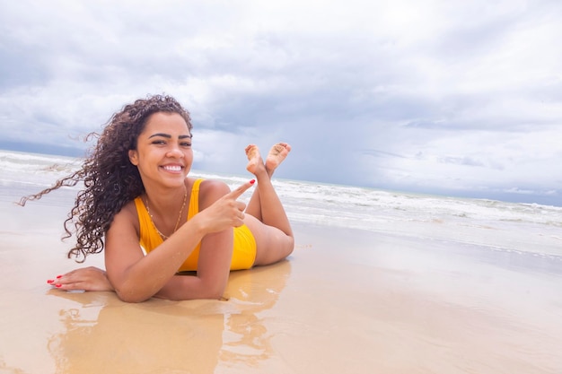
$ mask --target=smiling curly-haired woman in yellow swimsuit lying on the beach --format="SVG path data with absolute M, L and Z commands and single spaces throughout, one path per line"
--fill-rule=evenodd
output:
M 294 248 L 291 225 L 271 176 L 291 147 L 273 146 L 264 163 L 246 148 L 255 176 L 230 192 L 222 182 L 188 177 L 193 162 L 189 112 L 168 96 L 136 100 L 110 118 L 83 167 L 38 199 L 83 181 L 65 222 L 74 223 L 79 260 L 105 249 L 106 272 L 95 267 L 59 275 L 61 290 L 116 291 L 139 302 L 220 299 L 230 270 L 273 264 Z M 257 180 L 248 206 L 236 201 Z M 145 252 L 146 253 L 145 253 Z M 195 275 L 178 274 L 196 270 Z

